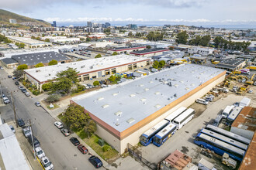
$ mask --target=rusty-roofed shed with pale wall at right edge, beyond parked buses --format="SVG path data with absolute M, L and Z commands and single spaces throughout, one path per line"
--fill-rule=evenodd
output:
M 252 139 L 256 131 L 256 108 L 244 107 L 231 125 L 230 131 L 244 138 Z

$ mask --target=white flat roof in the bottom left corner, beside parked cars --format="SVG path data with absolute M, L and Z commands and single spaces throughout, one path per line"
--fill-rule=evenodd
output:
M 8 124 L 0 125 L 0 157 L 2 157 L 5 169 L 29 170 L 26 159 L 19 147 L 19 142 Z

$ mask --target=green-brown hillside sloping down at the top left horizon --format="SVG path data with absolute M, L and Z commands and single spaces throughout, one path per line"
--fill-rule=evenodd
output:
M 19 22 L 36 22 L 42 26 L 50 26 L 50 23 L 45 22 L 40 19 L 31 19 L 26 16 L 18 15 L 13 12 L 5 11 L 3 9 L 0 9 L 0 23 L 2 24 L 9 24 L 9 19 L 16 19 L 16 21 Z

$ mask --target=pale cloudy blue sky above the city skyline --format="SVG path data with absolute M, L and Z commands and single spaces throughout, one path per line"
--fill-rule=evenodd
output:
M 255 0 L 0 0 L 1 8 L 57 26 L 112 25 L 256 27 Z

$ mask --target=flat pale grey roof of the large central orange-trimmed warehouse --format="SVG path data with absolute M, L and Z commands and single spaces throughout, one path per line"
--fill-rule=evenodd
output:
M 127 80 L 119 85 L 85 93 L 72 100 L 121 132 L 223 71 L 208 66 L 182 64 L 135 80 Z M 113 93 L 117 95 L 112 95 Z M 109 107 L 102 107 L 106 104 Z M 120 116 L 115 114 L 118 111 L 122 112 Z M 129 124 L 126 121 L 130 118 L 134 121 Z

